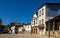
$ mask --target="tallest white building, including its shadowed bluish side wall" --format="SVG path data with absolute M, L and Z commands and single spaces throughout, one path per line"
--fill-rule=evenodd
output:
M 60 3 L 45 3 L 38 9 L 38 24 L 43 24 L 44 28 L 40 29 L 40 34 L 46 33 L 46 21 L 60 15 Z

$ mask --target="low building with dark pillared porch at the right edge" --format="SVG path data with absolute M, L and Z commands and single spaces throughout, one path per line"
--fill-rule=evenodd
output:
M 50 35 L 56 35 L 59 37 L 60 35 L 60 15 L 46 21 L 46 32 L 48 34 L 49 31 L 49 23 L 50 23 Z

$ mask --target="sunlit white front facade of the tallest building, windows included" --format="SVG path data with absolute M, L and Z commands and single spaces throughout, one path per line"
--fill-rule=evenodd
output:
M 45 30 L 46 30 L 46 25 L 45 25 L 45 21 L 46 21 L 46 5 L 42 6 L 39 10 L 38 10 L 38 19 L 39 19 L 39 25 L 44 25 L 44 29 L 40 29 L 40 34 L 45 34 Z

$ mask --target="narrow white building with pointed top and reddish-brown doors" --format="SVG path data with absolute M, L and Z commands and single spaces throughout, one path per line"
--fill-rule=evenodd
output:
M 39 28 L 38 28 L 38 14 L 36 13 L 36 10 L 34 10 L 34 15 L 31 21 L 31 33 L 32 34 L 38 34 Z

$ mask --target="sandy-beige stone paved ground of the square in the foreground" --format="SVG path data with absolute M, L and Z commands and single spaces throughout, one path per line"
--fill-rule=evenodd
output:
M 0 38 L 48 38 L 48 36 L 31 34 L 0 34 Z

